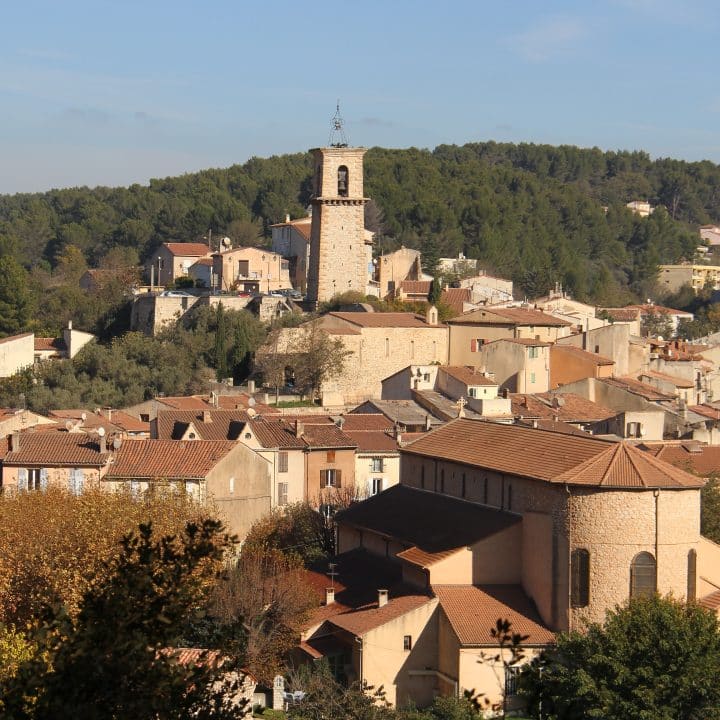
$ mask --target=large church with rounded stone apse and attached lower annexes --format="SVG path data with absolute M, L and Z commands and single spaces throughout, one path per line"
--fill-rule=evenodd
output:
M 390 702 L 496 699 L 512 677 L 478 660 L 499 617 L 529 659 L 629 597 L 703 601 L 720 581 L 703 480 L 626 443 L 460 419 L 401 454 L 400 485 L 338 515 L 300 646 Z

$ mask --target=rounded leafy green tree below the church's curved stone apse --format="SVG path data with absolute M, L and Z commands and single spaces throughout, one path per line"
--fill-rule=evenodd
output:
M 609 611 L 586 632 L 559 635 L 523 673 L 520 690 L 533 717 L 714 720 L 719 672 L 715 613 L 655 596 Z

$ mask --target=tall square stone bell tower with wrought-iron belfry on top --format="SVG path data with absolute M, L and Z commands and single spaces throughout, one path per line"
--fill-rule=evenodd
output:
M 328 145 L 311 150 L 314 177 L 307 299 L 313 304 L 348 290 L 365 294 L 372 262 L 372 240 L 365 231 L 365 148 L 348 147 L 339 107 Z

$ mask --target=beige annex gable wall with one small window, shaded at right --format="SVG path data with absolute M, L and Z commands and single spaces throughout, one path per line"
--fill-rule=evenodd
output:
M 429 705 L 436 686 L 434 674 L 413 674 L 437 664 L 437 599 L 365 633 L 362 676 L 370 685 L 382 685 L 386 699 L 403 706 L 412 699 Z M 412 649 L 403 650 L 403 637 L 410 635 Z

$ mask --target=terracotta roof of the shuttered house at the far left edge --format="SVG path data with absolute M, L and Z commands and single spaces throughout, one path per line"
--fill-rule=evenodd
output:
M 7 441 L 6 441 L 7 442 Z M 96 435 L 77 432 L 23 432 L 20 449 L 5 455 L 5 465 L 100 467 L 110 459 L 110 453 L 100 452 Z

